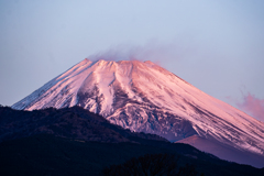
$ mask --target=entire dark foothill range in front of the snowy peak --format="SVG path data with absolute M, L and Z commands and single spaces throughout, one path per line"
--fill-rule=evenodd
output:
M 123 176 L 136 169 L 182 170 L 182 176 L 189 172 L 194 176 L 261 176 L 264 172 L 155 134 L 124 130 L 81 107 L 33 111 L 0 107 L 0 175 L 4 176 Z

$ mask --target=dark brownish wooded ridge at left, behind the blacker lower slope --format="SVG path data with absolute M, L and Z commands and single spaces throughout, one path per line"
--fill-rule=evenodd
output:
M 108 143 L 140 143 L 142 139 L 168 142 L 155 134 L 124 130 L 81 107 L 33 111 L 0 107 L 0 142 L 37 134 Z

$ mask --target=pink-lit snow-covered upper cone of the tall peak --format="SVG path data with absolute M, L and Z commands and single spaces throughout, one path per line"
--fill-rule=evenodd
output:
M 152 62 L 85 59 L 14 103 L 14 109 L 80 106 L 132 131 L 170 141 L 194 134 L 264 155 L 264 123 Z

